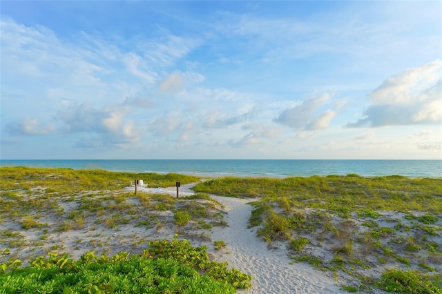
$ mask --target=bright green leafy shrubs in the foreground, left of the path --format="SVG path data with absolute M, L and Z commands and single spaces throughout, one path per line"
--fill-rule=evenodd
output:
M 92 251 L 73 260 L 49 253 L 21 267 L 0 264 L 0 293 L 236 293 L 251 277 L 227 264 L 210 262 L 204 247 L 186 240 L 155 241 L 140 255 L 113 257 Z

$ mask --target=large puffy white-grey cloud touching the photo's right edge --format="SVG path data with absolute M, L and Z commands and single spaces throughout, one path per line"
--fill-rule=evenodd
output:
M 380 127 L 442 123 L 442 61 L 387 78 L 369 95 L 363 118 L 346 126 Z

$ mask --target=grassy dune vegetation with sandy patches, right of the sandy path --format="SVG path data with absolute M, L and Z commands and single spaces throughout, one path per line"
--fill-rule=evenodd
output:
M 442 293 L 442 179 L 410 179 L 402 176 L 289 177 L 287 179 L 225 177 L 195 186 L 200 193 L 229 197 L 255 197 L 249 227 L 271 244 L 287 240 L 290 257 L 321 271 L 356 277 L 347 291 L 382 288 L 394 291 L 387 277 L 412 276 L 414 282 L 396 287 L 400 293 L 425 293 L 421 283 Z M 403 220 L 392 218 L 404 215 Z M 292 237 L 296 235 L 297 237 Z M 307 238 L 308 237 L 308 238 Z M 303 249 L 308 244 L 308 251 Z M 324 257 L 328 251 L 331 257 Z M 307 254 L 305 254 L 307 253 Z M 383 280 L 365 273 L 379 264 L 396 266 Z M 389 276 L 390 275 L 390 276 Z M 411 290 L 410 290 L 411 287 Z M 421 287 L 421 288 L 420 288 Z

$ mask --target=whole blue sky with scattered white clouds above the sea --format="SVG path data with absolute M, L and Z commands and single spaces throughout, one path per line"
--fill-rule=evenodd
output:
M 0 159 L 442 159 L 442 1 L 0 14 Z

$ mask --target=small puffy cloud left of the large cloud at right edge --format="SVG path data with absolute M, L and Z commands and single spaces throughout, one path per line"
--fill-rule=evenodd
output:
M 294 108 L 289 108 L 280 113 L 274 121 L 289 126 L 297 130 L 321 130 L 329 127 L 330 121 L 336 116 L 336 109 L 343 104 L 337 103 L 334 109 L 325 110 L 319 115 L 314 115 L 331 98 L 328 93 L 323 93 L 318 97 L 302 101 Z

